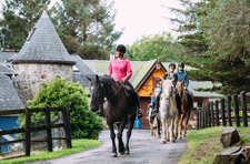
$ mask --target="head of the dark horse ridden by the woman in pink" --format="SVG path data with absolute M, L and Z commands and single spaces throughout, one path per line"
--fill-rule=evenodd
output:
M 87 79 L 90 81 L 90 85 L 89 85 L 90 105 L 89 105 L 89 109 L 92 112 L 98 112 L 100 104 L 103 103 L 103 99 L 104 99 L 103 84 L 100 82 L 99 76 L 97 74 L 96 74 L 96 79 L 90 79 L 88 76 L 87 76 Z

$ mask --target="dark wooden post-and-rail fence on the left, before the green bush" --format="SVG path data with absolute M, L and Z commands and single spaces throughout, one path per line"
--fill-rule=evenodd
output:
M 61 111 L 62 112 L 63 123 L 51 124 L 50 112 L 52 112 L 52 111 L 54 111 L 54 112 Z M 44 112 L 46 125 L 31 127 L 31 113 L 33 113 L 33 112 Z M 20 155 L 20 156 L 30 156 L 31 143 L 32 142 L 47 142 L 49 152 L 53 151 L 52 140 L 66 140 L 67 147 L 69 147 L 69 148 L 72 147 L 71 130 L 70 130 L 70 113 L 69 113 L 69 110 L 66 106 L 61 105 L 60 107 L 49 107 L 48 105 L 46 105 L 44 107 L 41 107 L 41 109 L 26 107 L 24 110 L 0 111 L 0 116 L 1 115 L 9 115 L 9 114 L 22 114 L 22 113 L 26 114 L 26 127 L 24 129 L 8 130 L 8 131 L 0 131 L 0 136 L 7 135 L 7 134 L 24 133 L 24 139 L 10 141 L 10 142 L 3 142 L 3 143 L 1 143 L 1 140 L 0 140 L 0 153 L 1 153 L 1 146 L 10 145 L 10 144 L 13 144 L 13 143 L 20 143 L 20 142 L 24 142 L 24 150 L 26 150 L 26 154 Z M 54 129 L 54 127 L 63 127 L 64 133 L 66 133 L 66 137 L 52 137 L 51 129 Z M 47 131 L 46 140 L 37 140 L 37 141 L 31 140 L 31 132 L 44 131 L 44 130 Z M 20 157 L 20 156 L 14 156 L 14 157 Z M 11 157 L 11 158 L 13 158 L 13 157 Z

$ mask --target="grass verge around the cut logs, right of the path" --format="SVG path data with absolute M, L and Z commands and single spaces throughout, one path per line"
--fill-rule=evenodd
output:
M 187 133 L 186 140 L 188 140 L 189 150 L 183 153 L 178 164 L 212 163 L 217 154 L 223 151 L 222 144 L 220 143 L 220 134 L 227 127 L 229 126 L 208 127 Z M 236 129 L 241 139 L 241 142 L 236 145 L 250 145 L 250 126 Z

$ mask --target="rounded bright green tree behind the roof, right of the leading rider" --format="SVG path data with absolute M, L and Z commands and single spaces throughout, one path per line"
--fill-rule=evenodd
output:
M 127 58 L 131 60 L 179 61 L 184 54 L 184 48 L 179 44 L 171 33 L 162 32 L 153 37 L 142 37 L 131 47 L 128 47 Z

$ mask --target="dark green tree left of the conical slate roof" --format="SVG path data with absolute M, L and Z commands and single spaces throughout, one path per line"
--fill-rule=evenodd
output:
M 6 35 L 6 45 L 19 51 L 49 3 L 50 0 L 4 0 L 0 29 Z

